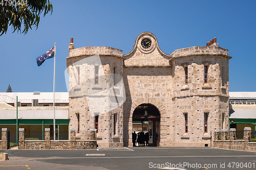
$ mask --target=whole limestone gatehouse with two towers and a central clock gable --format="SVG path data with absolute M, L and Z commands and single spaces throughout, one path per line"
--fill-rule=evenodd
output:
M 151 146 L 209 146 L 215 130 L 228 129 L 231 58 L 216 38 L 170 55 L 150 32 L 125 55 L 75 48 L 71 38 L 69 129 L 97 131 L 99 147 L 132 146 L 133 131 L 148 132 Z

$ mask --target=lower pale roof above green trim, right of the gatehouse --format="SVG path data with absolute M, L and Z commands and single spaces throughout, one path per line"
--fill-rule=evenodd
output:
M 229 118 L 256 118 L 256 109 L 229 109 Z

